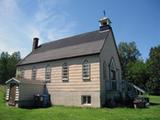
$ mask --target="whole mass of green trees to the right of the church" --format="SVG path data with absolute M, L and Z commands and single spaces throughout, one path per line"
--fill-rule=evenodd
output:
M 160 45 L 150 49 L 149 58 L 143 62 L 135 42 L 122 42 L 118 46 L 122 63 L 122 77 L 137 86 L 160 95 Z

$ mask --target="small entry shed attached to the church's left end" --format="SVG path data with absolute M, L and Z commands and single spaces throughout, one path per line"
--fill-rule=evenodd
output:
M 33 105 L 33 96 L 43 94 L 44 82 L 33 80 L 18 80 L 11 78 L 6 81 L 7 105 L 29 107 Z

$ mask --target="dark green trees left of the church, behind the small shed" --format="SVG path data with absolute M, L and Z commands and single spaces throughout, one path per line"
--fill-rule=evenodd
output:
M 2 52 L 0 55 L 0 83 L 4 84 L 6 80 L 15 76 L 16 64 L 20 61 L 20 52 L 14 52 L 9 55 Z

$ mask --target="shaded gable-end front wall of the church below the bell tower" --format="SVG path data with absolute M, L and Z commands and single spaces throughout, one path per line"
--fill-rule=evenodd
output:
M 110 89 L 111 84 L 109 82 L 110 80 L 110 75 L 109 75 L 109 64 L 111 59 L 114 59 L 116 69 L 119 70 L 119 75 L 118 72 L 116 71 L 116 79 L 121 80 L 121 65 L 120 65 L 120 60 L 118 57 L 116 49 L 116 44 L 114 43 L 114 37 L 112 34 L 112 31 L 109 31 L 109 35 L 107 39 L 105 40 L 103 49 L 100 54 L 100 80 L 101 80 L 101 103 L 105 104 L 106 99 L 108 97 L 107 90 Z M 103 73 L 103 63 L 104 61 L 106 62 L 106 73 Z M 103 74 L 106 74 L 106 79 L 104 79 Z M 117 84 L 117 87 L 119 87 L 119 84 Z

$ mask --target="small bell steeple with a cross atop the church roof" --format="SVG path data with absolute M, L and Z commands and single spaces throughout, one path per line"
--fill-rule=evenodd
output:
M 111 28 L 111 20 L 106 17 L 105 11 L 103 11 L 103 13 L 104 17 L 99 20 L 101 31 Z

